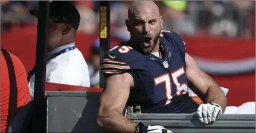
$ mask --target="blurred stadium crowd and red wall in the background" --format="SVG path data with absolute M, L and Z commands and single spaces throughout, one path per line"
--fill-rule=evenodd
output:
M 79 35 L 75 43 L 89 64 L 92 87 L 98 87 L 100 2 L 71 2 L 77 7 L 81 16 Z M 113 46 L 129 39 L 130 35 L 124 21 L 127 19 L 127 10 L 131 2 L 111 1 L 110 31 Z M 155 2 L 164 17 L 164 29 L 170 29 L 181 34 L 187 42 L 187 51 L 191 52 L 191 55 L 210 58 L 214 61 L 223 60 L 223 58 L 228 61 L 254 58 L 255 61 L 255 1 Z M 29 10 L 38 8 L 38 1 L 1 0 L 1 5 L 1 45 L 20 57 L 28 71 L 34 66 L 37 24 L 36 17 L 31 16 Z M 222 54 L 218 54 L 216 49 Z M 234 52 L 228 52 L 232 49 Z M 235 72 L 235 70 L 233 71 Z M 232 80 L 232 77 L 235 76 L 230 78 L 230 75 L 226 74 L 229 77 L 226 79 L 223 75 L 214 75 L 214 72 L 210 74 L 220 85 L 225 85 L 223 87 L 233 89 L 232 92 L 240 93 L 239 90 L 235 90 L 237 84 L 231 85 L 231 82 L 227 81 Z M 247 80 L 238 87 L 247 85 L 244 87 L 249 87 L 255 92 L 255 72 L 250 72 L 247 76 L 243 77 Z M 251 78 L 252 76 L 254 78 Z M 238 78 L 239 82 L 241 80 L 243 79 Z M 255 95 L 253 97 L 255 100 Z

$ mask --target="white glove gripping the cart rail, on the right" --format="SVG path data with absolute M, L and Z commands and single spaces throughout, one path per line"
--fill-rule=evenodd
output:
M 215 122 L 218 114 L 222 114 L 222 108 L 215 103 L 201 104 L 197 109 L 199 121 L 205 125 Z

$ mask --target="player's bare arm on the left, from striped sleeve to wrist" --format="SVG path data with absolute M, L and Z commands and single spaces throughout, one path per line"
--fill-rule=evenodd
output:
M 117 132 L 135 132 L 138 123 L 123 116 L 133 78 L 129 73 L 106 78 L 106 85 L 100 97 L 97 123 L 101 128 Z

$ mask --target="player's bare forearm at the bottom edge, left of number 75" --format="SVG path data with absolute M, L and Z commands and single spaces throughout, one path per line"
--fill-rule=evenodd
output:
M 116 132 L 135 132 L 138 126 L 138 123 L 130 121 L 117 110 L 107 111 L 104 115 L 98 116 L 97 123 L 101 128 Z

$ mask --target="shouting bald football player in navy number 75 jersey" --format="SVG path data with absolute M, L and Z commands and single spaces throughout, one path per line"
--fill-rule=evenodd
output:
M 124 108 L 134 105 L 141 107 L 141 113 L 197 112 L 200 122 L 214 122 L 225 111 L 225 94 L 185 52 L 181 36 L 162 30 L 158 6 L 135 1 L 128 12 L 130 40 L 110 49 L 100 63 L 106 83 L 98 125 L 117 132 L 171 132 L 124 117 Z M 188 96 L 188 85 L 204 104 Z

